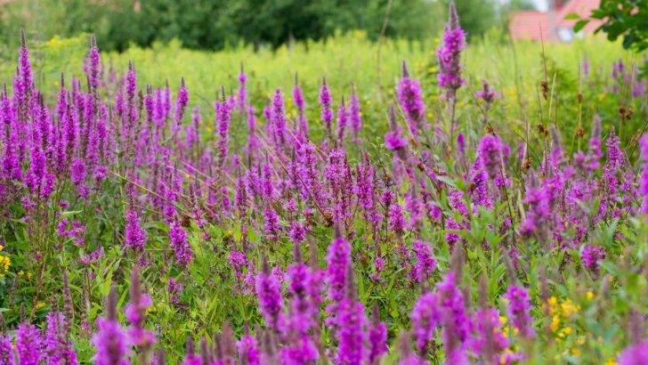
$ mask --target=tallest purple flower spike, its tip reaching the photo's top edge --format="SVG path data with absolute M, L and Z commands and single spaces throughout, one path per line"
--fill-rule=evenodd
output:
M 461 52 L 466 45 L 466 32 L 459 26 L 455 3 L 450 1 L 450 20 L 443 32 L 441 45 L 436 51 L 439 61 L 439 85 L 446 89 L 447 99 L 454 99 L 464 84 L 461 78 Z

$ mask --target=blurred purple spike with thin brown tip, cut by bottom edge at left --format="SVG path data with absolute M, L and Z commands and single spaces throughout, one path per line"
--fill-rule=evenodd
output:
M 129 365 L 126 360 L 128 339 L 124 329 L 117 322 L 117 292 L 110 289 L 108 315 L 97 319 L 97 333 L 92 344 L 97 349 L 93 361 L 96 365 Z

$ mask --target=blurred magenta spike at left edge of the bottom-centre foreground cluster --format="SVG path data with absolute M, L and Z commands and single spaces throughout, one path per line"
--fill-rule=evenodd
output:
M 279 332 L 282 326 L 281 288 L 279 281 L 271 274 L 268 260 L 263 257 L 263 269 L 256 275 L 256 296 L 259 299 L 259 310 L 268 327 Z

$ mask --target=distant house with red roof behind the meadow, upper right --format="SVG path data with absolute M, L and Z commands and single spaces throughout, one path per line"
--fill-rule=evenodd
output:
M 522 11 L 511 14 L 508 31 L 513 39 L 571 42 L 574 37 L 594 33 L 601 21 L 592 20 L 579 34 L 574 34 L 573 27 L 578 20 L 565 20 L 565 17 L 575 13 L 580 18 L 587 18 L 599 4 L 601 0 L 549 0 L 547 12 Z

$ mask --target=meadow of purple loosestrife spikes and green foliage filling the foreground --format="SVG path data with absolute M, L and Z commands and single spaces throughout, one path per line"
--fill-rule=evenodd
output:
M 245 64 L 201 109 L 94 40 L 50 95 L 23 36 L 0 365 L 648 363 L 645 79 L 540 53 L 508 123 L 449 18 L 435 82 L 384 69 L 370 113 L 353 79 L 264 98 Z

